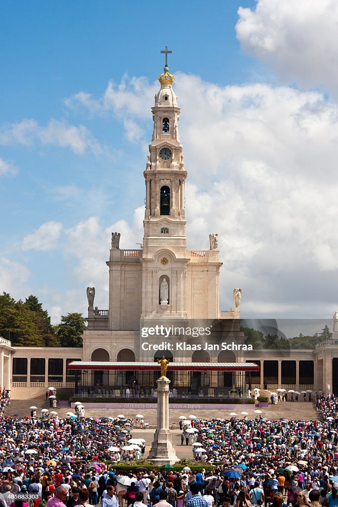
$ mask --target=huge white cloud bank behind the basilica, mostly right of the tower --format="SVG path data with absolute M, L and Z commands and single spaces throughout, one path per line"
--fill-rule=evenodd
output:
M 154 93 L 152 85 L 145 97 L 149 90 Z M 318 92 L 262 84 L 221 88 L 183 74 L 175 91 L 188 171 L 188 247 L 208 248 L 208 234 L 218 233 L 221 309 L 233 306 L 233 287 L 240 286 L 243 315 L 291 316 L 293 308 L 293 316 L 326 317 L 337 305 L 337 105 Z M 143 99 L 144 113 L 138 106 L 132 113 L 139 92 L 128 93 L 135 100 L 122 101 L 121 119 L 125 113 L 137 121 L 150 140 L 149 103 Z M 127 192 L 123 181 L 120 189 Z M 114 212 L 121 216 L 118 206 Z M 95 304 L 107 308 L 111 232 L 121 232 L 121 248 L 137 248 L 143 213 L 142 206 L 132 224 L 119 220 L 108 227 L 103 216 L 92 216 L 64 231 L 60 248 L 82 311 L 89 284 L 96 287 Z M 64 313 L 59 297 L 53 306 Z

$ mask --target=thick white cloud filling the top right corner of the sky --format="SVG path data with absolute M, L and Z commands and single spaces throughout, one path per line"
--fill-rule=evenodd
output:
M 336 96 L 338 84 L 336 0 L 257 0 L 238 10 L 237 38 L 243 51 L 272 67 L 283 82 L 323 86 Z

